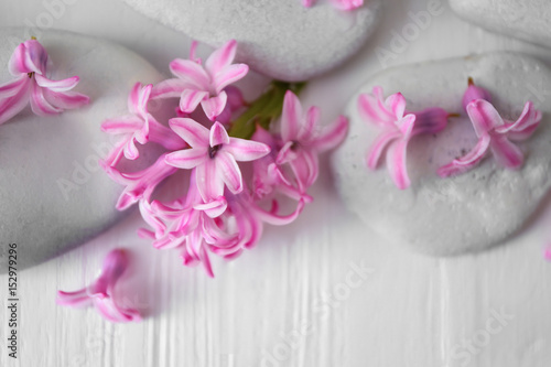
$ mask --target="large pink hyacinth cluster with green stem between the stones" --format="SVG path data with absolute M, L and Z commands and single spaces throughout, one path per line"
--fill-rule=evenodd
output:
M 158 249 L 177 249 L 186 266 L 202 265 L 213 277 L 213 255 L 225 259 L 255 247 L 263 226 L 293 222 L 312 201 L 309 187 L 318 174 L 318 154 L 339 144 L 348 121 L 321 127 L 320 110 L 303 111 L 302 84 L 274 82 L 248 104 L 233 85 L 248 72 L 235 64 L 229 41 L 203 61 L 193 43 L 187 60 L 170 64 L 174 78 L 137 84 L 129 114 L 110 118 L 102 130 L 119 137 L 101 165 L 123 185 L 118 209 L 138 205 L 147 228 L 139 235 Z M 151 100 L 179 102 L 174 117 L 158 121 Z M 127 164 L 150 144 L 164 152 L 148 168 Z M 179 173 L 179 174 L 176 174 Z M 160 184 L 179 180 L 179 197 L 161 199 Z

